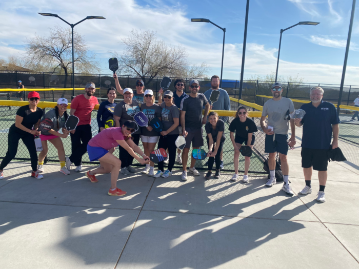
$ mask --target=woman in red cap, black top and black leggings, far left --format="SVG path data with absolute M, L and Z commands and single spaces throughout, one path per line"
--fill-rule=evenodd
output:
M 37 152 L 35 147 L 34 135 L 37 131 L 40 120 L 43 116 L 43 110 L 37 107 L 40 95 L 37 92 L 29 92 L 29 105 L 19 108 L 16 112 L 15 123 L 9 129 L 8 152 L 0 164 L 0 179 L 4 178 L 3 169 L 9 162 L 15 158 L 18 141 L 23 140 L 27 150 L 30 153 L 32 172 L 31 176 L 37 179 L 44 178 L 37 172 Z

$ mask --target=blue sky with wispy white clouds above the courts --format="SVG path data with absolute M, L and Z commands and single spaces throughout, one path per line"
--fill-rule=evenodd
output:
M 152 30 L 166 44 L 183 46 L 193 64 L 205 62 L 209 76 L 221 72 L 223 31 L 209 23 L 191 23 L 208 18 L 226 28 L 224 79 L 240 79 L 246 0 L 2 0 L 0 2 L 0 58 L 25 55 L 26 38 L 48 35 L 56 25 L 89 15 L 106 19 L 85 20 L 75 29 L 84 36 L 89 50 L 101 62 L 102 74 L 110 74 L 108 58 L 121 54 L 121 41 L 132 29 Z M 304 82 L 340 84 L 348 37 L 352 0 L 250 0 L 244 78 L 265 76 L 276 69 L 280 30 L 283 33 L 278 75 L 302 77 Z M 357 14 L 359 4 L 356 6 Z M 359 85 L 359 15 L 354 16 L 345 85 Z

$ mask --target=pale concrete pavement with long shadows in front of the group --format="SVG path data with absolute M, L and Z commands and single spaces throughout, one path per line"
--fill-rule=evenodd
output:
M 305 185 L 296 133 L 294 193 Z M 137 169 L 119 176 L 128 194 L 111 197 L 109 175 L 91 183 L 91 168 L 65 176 L 48 164 L 37 180 L 29 163 L 9 164 L 0 268 L 359 268 L 359 170 L 349 162 L 329 163 L 325 203 L 315 200 L 315 172 L 313 193 L 288 197 L 261 176 L 183 182 L 181 171 L 154 179 Z

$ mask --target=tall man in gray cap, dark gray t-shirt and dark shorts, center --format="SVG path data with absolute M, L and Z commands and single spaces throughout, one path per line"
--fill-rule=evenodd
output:
M 181 126 L 182 135 L 186 137 L 186 146 L 182 152 L 183 173 L 181 179 L 187 180 L 187 160 L 189 148 L 199 149 L 203 146 L 202 125 L 206 124 L 209 111 L 209 102 L 204 94 L 198 93 L 201 87 L 196 79 L 189 83 L 191 93 L 181 101 Z M 202 117 L 202 108 L 205 106 L 205 114 Z M 192 154 L 191 154 L 192 156 Z M 194 168 L 196 160 L 192 157 L 189 172 L 195 176 L 200 173 Z

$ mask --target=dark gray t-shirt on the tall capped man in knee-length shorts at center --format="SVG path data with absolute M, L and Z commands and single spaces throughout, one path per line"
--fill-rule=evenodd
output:
M 197 93 L 196 97 L 187 95 L 181 101 L 181 110 L 186 111 L 185 128 L 201 129 L 202 128 L 202 109 L 208 101 L 203 93 Z

